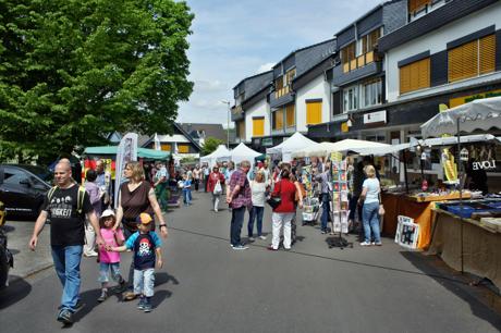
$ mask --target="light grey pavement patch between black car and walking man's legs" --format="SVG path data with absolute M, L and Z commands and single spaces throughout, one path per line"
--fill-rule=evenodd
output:
M 36 252 L 28 248 L 34 221 L 7 221 L 8 247 L 14 255 L 14 268 L 9 272 L 10 283 L 52 267 L 50 254 L 50 224 L 46 224 L 38 237 Z

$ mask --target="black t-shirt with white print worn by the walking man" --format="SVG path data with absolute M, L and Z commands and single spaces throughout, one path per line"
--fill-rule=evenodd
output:
M 84 245 L 85 214 L 93 211 L 90 199 L 85 192 L 82 214 L 77 212 L 78 186 L 70 188 L 57 188 L 49 202 L 46 195 L 42 209 L 48 212 L 50 219 L 50 244 L 51 245 Z

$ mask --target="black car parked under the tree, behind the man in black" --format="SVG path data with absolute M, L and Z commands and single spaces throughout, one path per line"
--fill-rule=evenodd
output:
M 37 165 L 0 164 L 0 201 L 9 219 L 35 220 L 52 174 Z

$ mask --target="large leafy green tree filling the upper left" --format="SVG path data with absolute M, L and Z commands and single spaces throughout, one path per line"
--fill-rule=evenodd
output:
M 0 0 L 0 158 L 170 133 L 193 17 L 174 0 Z

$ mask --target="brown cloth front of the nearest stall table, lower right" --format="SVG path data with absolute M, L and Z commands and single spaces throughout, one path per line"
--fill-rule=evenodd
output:
M 501 234 L 482 226 L 479 221 L 461 220 L 448 211 L 435 209 L 435 231 L 427 255 L 439 255 L 449 267 L 461 271 L 461 223 L 464 271 L 488 278 L 501 287 Z

